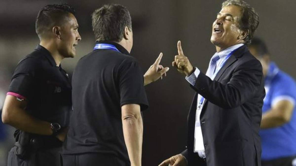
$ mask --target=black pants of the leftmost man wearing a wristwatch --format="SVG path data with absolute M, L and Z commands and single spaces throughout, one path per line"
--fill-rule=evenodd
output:
M 9 151 L 7 166 L 62 166 L 62 147 L 33 151 L 28 160 L 17 157 L 16 149 L 14 146 Z

